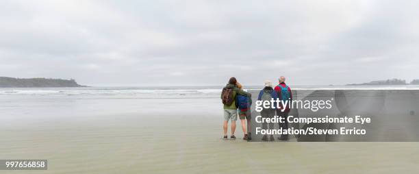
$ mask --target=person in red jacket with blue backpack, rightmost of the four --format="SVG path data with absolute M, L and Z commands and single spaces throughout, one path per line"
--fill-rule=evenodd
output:
M 281 101 L 288 100 L 288 103 L 292 101 L 291 88 L 290 86 L 285 84 L 285 77 L 283 76 L 279 77 L 279 84 L 275 86 L 274 90 L 275 92 L 277 92 L 278 98 Z M 285 110 L 283 110 L 283 107 L 285 107 Z M 285 105 L 285 106 L 281 105 L 281 108 L 277 108 L 277 116 L 285 118 L 284 123 L 279 123 L 279 127 L 282 127 L 282 129 L 288 129 L 288 113 L 290 113 L 289 105 Z M 281 135 L 281 137 L 278 137 L 278 140 L 288 140 L 288 139 L 289 139 L 288 134 Z

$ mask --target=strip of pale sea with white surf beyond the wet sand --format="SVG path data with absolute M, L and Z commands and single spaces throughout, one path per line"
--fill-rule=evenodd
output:
M 95 86 L 62 88 L 0 88 L 1 96 L 86 96 L 102 97 L 219 97 L 224 86 Z M 263 86 L 244 86 L 261 90 Z M 419 85 L 290 85 L 292 90 L 419 90 Z

